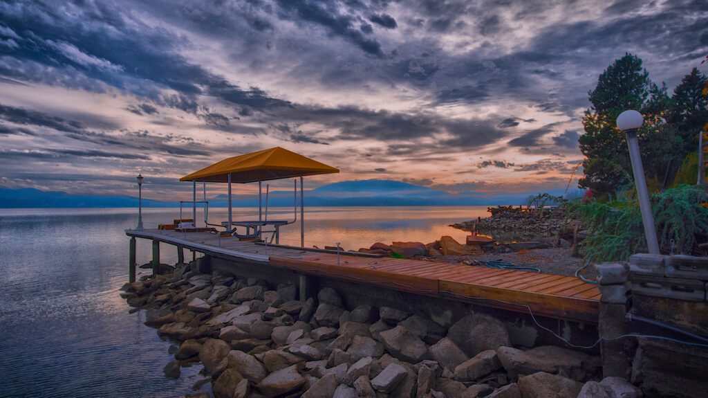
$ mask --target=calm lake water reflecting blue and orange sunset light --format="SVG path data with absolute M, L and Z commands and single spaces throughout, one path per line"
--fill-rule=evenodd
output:
M 484 206 L 306 210 L 307 246 L 340 242 L 344 249 L 442 235 L 464 241 L 465 232 L 447 225 L 489 214 Z M 293 217 L 292 209 L 269 213 L 270 220 Z M 209 220 L 226 214 L 212 209 Z M 178 216 L 146 209 L 144 227 Z M 234 213 L 234 220 L 254 219 L 258 209 Z M 127 282 L 124 231 L 136 224 L 135 209 L 0 209 L 0 397 L 179 397 L 202 379 L 200 365 L 183 368 L 178 380 L 164 377 L 170 343 L 143 325 L 143 311 L 129 314 L 118 295 Z M 299 241 L 299 221 L 281 229 L 281 244 Z M 150 253 L 150 242 L 137 239 L 138 263 Z M 162 262 L 176 262 L 172 246 L 161 254 Z

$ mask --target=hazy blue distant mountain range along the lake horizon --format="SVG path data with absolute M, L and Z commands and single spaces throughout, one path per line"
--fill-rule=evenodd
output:
M 265 190 L 263 190 L 265 203 Z M 545 191 L 551 195 L 576 197 L 582 190 L 562 189 Z M 525 205 L 528 199 L 541 192 L 522 193 L 447 193 L 409 183 L 387 180 L 341 181 L 304 191 L 305 205 L 326 206 L 464 206 L 464 205 Z M 299 201 L 299 192 L 297 193 Z M 273 191 L 268 194 L 271 207 L 293 205 L 292 191 Z M 236 207 L 258 206 L 256 195 L 233 195 Z M 72 196 L 65 192 L 39 191 L 34 188 L 0 188 L 0 207 L 137 207 L 138 199 L 125 196 Z M 143 199 L 144 207 L 176 207 L 177 202 Z M 209 198 L 210 207 L 226 207 L 227 195 Z

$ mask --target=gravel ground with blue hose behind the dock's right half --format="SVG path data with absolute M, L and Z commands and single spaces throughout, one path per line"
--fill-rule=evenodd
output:
M 474 265 L 474 260 L 482 261 L 506 261 L 515 266 L 539 268 L 542 273 L 554 273 L 556 275 L 575 275 L 578 268 L 585 263 L 583 258 L 571 256 L 571 250 L 567 248 L 555 249 L 530 249 L 512 253 L 480 253 L 464 254 L 462 256 L 442 256 L 435 258 L 435 261 L 447 263 L 467 263 Z M 583 276 L 590 280 L 598 278 L 598 271 L 590 265 L 583 271 Z

